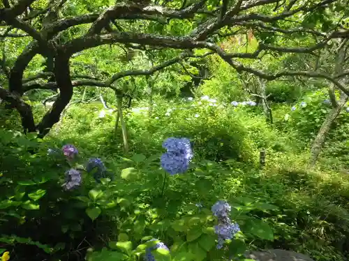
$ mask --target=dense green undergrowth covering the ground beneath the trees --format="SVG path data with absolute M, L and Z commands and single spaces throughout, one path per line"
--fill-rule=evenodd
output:
M 0 247 L 11 260 L 138 260 L 150 244 L 144 242 L 154 237 L 169 246 L 174 260 L 227 260 L 246 246 L 346 260 L 348 158 L 340 149 L 346 147 L 346 111 L 318 168 L 306 168 L 306 145 L 329 109 L 324 100 L 320 92 L 275 106 L 274 126 L 258 106 L 207 97 L 159 99 L 149 116 L 147 105 L 138 102 L 125 112 L 128 155 L 121 131 L 114 133 L 115 113 L 99 104 L 70 106 L 45 141 L 16 132 L 15 115 L 6 115 L 0 133 Z M 170 136 L 191 139 L 195 158 L 187 173 L 168 177 L 159 157 Z M 47 155 L 48 148 L 67 143 L 79 150 L 76 161 Z M 264 168 L 260 150 L 267 151 Z M 90 157 L 101 158 L 114 180 L 96 183 L 84 170 Z M 64 191 L 69 168 L 82 171 L 83 183 Z M 218 250 L 210 209 L 220 199 L 232 205 L 231 218 L 242 232 Z M 168 258 L 157 254 L 158 260 Z

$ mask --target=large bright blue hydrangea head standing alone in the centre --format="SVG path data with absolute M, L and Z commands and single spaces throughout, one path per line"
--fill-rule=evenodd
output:
M 188 170 L 189 162 L 193 158 L 191 142 L 186 138 L 168 138 L 163 143 L 168 151 L 161 156 L 161 166 L 165 171 L 174 175 Z

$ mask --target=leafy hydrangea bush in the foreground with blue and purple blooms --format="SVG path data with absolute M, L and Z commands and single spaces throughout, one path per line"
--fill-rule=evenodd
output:
M 3 252 L 9 255 L 14 244 L 9 242 L 15 242 L 10 240 L 38 246 L 45 252 L 40 258 L 49 258 L 70 255 L 72 246 L 78 249 L 83 244 L 88 248 L 94 244 L 92 240 L 103 237 L 103 241 L 96 242 L 96 248 L 87 251 L 87 260 L 221 260 L 242 256 L 245 242 L 255 237 L 273 239 L 267 223 L 262 223 L 262 228 L 255 221 L 246 226 L 246 214 L 253 211 L 253 205 L 235 207 L 215 197 L 217 184 L 212 180 L 218 175 L 220 180 L 228 179 L 230 173 L 218 172 L 218 168 L 210 171 L 205 164 L 196 164 L 193 145 L 187 138 L 165 139 L 166 157 L 124 158 L 124 165 L 114 170 L 114 180 L 107 175 L 112 170 L 105 160 L 84 159 L 83 153 L 77 157 L 74 145 L 64 145 L 61 152 L 51 146 L 48 153 L 45 143 L 36 145 L 40 151 L 37 156 L 50 162 L 45 166 L 54 171 L 42 177 L 36 172 L 35 178 L 20 177 L 15 181 L 13 193 L 19 188 L 24 193 L 13 201 L 8 213 L 17 211 L 18 206 L 24 209 L 21 214 L 29 221 L 21 226 L 28 237 L 8 239 Z M 33 158 L 28 155 L 27 159 L 32 164 Z M 38 164 L 33 171 L 37 168 Z M 3 173 L 0 182 L 6 182 L 3 179 L 9 175 Z M 163 187 L 165 179 L 168 182 Z M 6 203 L 6 198 L 1 200 L 0 204 Z M 38 220 L 40 223 L 36 223 Z M 35 234 L 42 229 L 47 232 Z M 105 235 L 103 229 L 109 234 Z M 30 239 L 33 235 L 38 241 Z M 81 243 L 84 240 L 88 244 Z

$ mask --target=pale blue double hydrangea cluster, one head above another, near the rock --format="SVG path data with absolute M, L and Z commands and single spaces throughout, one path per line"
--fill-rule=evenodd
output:
M 232 223 L 229 218 L 230 205 L 222 200 L 216 202 L 211 211 L 218 218 L 218 225 L 214 226 L 214 232 L 218 235 L 217 248 L 221 249 L 226 239 L 232 239 L 240 228 L 237 223 Z

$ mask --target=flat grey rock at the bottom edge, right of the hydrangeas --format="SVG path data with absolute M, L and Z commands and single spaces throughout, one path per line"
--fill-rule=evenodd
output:
M 245 256 L 255 261 L 314 261 L 306 255 L 281 249 L 250 251 Z

